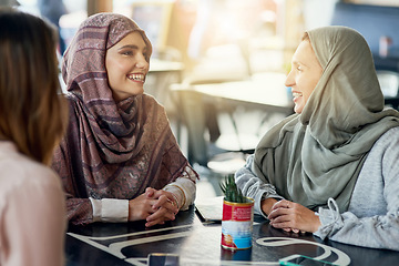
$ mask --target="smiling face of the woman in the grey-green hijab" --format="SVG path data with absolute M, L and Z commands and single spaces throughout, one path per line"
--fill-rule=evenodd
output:
M 291 71 L 285 83 L 286 86 L 291 88 L 296 113 L 303 112 L 306 102 L 320 80 L 321 73 L 323 68 L 310 42 L 308 40 L 301 41 L 293 55 Z

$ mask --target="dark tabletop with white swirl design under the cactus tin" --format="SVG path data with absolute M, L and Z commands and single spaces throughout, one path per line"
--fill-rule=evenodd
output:
M 321 242 L 311 234 L 285 233 L 255 215 L 253 247 L 231 250 L 221 247 L 219 223 L 203 223 L 194 207 L 180 212 L 165 225 L 145 228 L 144 222 L 94 223 L 70 226 L 66 234 L 66 266 L 144 266 L 150 253 L 180 256 L 180 265 L 278 265 L 293 254 L 323 257 L 339 265 L 396 265 L 399 253 Z

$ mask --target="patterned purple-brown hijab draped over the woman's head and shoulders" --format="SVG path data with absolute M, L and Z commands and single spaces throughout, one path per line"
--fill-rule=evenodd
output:
M 105 52 L 137 24 L 116 13 L 99 13 L 79 28 L 62 64 L 70 124 L 52 167 L 66 192 L 68 218 L 92 222 L 89 197 L 132 200 L 146 187 L 161 190 L 188 165 L 164 109 L 150 95 L 115 102 L 105 70 Z M 150 58 L 147 59 L 150 60 Z

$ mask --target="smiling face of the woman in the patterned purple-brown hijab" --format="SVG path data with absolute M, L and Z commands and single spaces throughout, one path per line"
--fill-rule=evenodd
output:
M 150 64 L 147 48 L 140 32 L 134 31 L 110 48 L 105 54 L 109 84 L 115 101 L 144 92 Z

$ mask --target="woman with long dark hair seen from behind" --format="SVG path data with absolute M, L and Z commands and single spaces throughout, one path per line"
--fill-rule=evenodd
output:
M 57 31 L 0 9 L 0 265 L 64 265 L 65 200 L 50 168 L 66 127 Z

